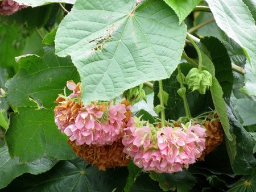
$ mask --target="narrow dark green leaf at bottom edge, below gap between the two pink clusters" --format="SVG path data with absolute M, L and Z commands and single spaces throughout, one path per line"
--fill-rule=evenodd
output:
M 126 181 L 125 185 L 125 192 L 129 192 L 131 189 L 131 186 L 136 181 L 136 178 L 138 177 L 139 173 L 142 172 L 141 168 L 138 168 L 138 166 L 134 165 L 133 161 L 130 161 L 127 165 L 127 168 L 129 170 L 129 176 Z

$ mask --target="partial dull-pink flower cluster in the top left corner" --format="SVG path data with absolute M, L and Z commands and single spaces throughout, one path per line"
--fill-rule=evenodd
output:
M 19 5 L 15 1 L 3 0 L 0 2 L 0 15 L 12 15 L 14 12 L 26 7 L 27 6 Z

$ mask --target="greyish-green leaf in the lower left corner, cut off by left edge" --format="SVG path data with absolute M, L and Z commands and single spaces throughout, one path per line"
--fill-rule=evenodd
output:
M 42 159 L 31 162 L 30 164 L 19 162 L 18 157 L 10 158 L 8 148 L 0 148 L 0 189 L 6 187 L 14 178 L 22 175 L 23 173 L 39 174 L 51 169 L 55 161 L 48 160 L 43 157 Z

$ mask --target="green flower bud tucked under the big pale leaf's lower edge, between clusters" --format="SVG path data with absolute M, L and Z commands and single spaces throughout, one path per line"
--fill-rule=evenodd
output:
M 143 84 L 126 90 L 123 92 L 123 97 L 125 97 L 127 101 L 131 103 L 131 105 L 140 102 L 142 99 L 146 101 L 146 93 L 142 87 Z

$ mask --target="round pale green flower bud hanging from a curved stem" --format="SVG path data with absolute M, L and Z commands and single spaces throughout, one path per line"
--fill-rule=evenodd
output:
M 202 70 L 201 73 L 197 68 L 189 70 L 184 84 L 188 85 L 188 89 L 192 91 L 198 90 L 200 94 L 205 94 L 205 91 L 212 85 L 212 75 L 207 70 Z

